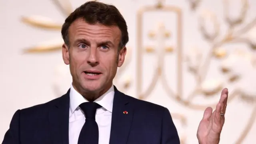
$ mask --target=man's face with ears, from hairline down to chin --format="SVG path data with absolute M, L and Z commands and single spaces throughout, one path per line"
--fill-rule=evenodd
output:
M 68 33 L 69 48 L 62 46 L 62 56 L 65 64 L 70 64 L 74 88 L 81 93 L 106 92 L 126 55 L 125 47 L 118 52 L 120 29 L 77 19 Z

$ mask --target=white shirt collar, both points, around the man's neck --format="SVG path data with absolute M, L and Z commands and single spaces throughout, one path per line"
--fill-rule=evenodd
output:
M 102 96 L 97 98 L 94 102 L 100 104 L 103 108 L 112 113 L 114 100 L 114 85 L 105 92 Z M 70 86 L 70 110 L 72 113 L 78 108 L 78 106 L 84 102 L 88 102 L 81 94 L 79 94 L 74 87 Z

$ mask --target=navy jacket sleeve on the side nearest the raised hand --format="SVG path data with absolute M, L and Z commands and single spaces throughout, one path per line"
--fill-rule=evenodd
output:
M 161 144 L 180 144 L 177 129 L 167 108 L 165 108 L 162 116 Z

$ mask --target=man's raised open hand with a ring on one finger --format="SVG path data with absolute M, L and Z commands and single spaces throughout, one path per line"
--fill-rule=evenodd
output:
M 208 107 L 204 111 L 204 116 L 198 126 L 197 138 L 199 144 L 218 144 L 220 133 L 225 122 L 225 112 L 228 100 L 228 89 L 224 88 L 221 92 L 220 101 L 216 110 L 212 113 L 212 108 Z

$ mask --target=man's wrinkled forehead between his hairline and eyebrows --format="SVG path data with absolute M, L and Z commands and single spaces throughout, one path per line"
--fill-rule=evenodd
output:
M 113 43 L 120 42 L 121 31 L 118 26 L 104 26 L 103 24 L 88 24 L 83 19 L 75 20 L 69 28 L 70 42 L 76 39 L 89 41 L 110 40 Z

